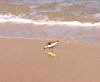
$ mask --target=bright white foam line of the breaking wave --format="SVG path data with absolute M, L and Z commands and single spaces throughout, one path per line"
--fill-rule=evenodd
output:
M 65 26 L 100 26 L 98 23 L 81 23 L 78 21 L 63 22 L 63 21 L 46 21 L 46 20 L 32 20 L 21 18 L 21 16 L 14 16 L 11 14 L 0 15 L 0 23 L 14 22 L 14 23 L 30 23 L 36 25 L 65 25 Z

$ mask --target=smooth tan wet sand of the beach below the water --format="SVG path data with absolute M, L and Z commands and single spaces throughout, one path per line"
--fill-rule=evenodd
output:
M 100 46 L 48 41 L 0 38 L 0 82 L 100 82 Z

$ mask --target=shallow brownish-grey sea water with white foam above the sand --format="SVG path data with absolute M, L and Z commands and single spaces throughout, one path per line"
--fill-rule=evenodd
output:
M 0 36 L 100 44 L 99 0 L 0 0 Z

